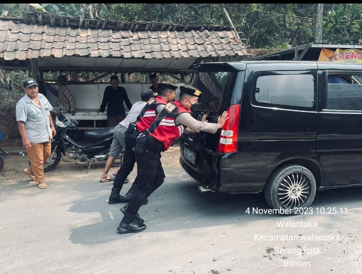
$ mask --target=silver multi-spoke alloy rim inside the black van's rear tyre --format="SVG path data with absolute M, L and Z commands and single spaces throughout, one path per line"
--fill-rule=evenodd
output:
M 278 185 L 278 199 L 287 209 L 299 208 L 307 200 L 311 182 L 306 174 L 292 172 L 286 175 Z

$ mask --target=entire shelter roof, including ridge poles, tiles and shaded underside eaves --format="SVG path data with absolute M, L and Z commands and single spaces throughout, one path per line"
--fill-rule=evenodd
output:
M 0 68 L 42 72 L 194 73 L 193 64 L 247 56 L 228 26 L 116 22 L 25 12 L 0 18 Z M 177 79 L 177 78 L 176 78 Z M 122 81 L 123 82 L 123 81 Z

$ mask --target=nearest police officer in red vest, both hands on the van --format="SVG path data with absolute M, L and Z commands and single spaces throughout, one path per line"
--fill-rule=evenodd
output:
M 226 111 L 218 118 L 218 123 L 204 122 L 205 115 L 202 121 L 194 119 L 190 115 L 190 109 L 198 103 L 201 95 L 192 86 L 180 86 L 180 100 L 168 103 L 150 128 L 139 135 L 133 149 L 137 162 L 136 191 L 129 203 L 121 208 L 124 217 L 117 228 L 120 233 L 135 233 L 146 229 L 137 212 L 143 200 L 164 182 L 161 152 L 167 151 L 187 128 L 215 133 L 228 119 Z

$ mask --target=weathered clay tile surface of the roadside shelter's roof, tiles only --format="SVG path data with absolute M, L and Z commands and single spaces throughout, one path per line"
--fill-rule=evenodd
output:
M 151 59 L 246 54 L 231 29 L 113 31 L 0 21 L 0 58 L 4 61 L 65 55 Z

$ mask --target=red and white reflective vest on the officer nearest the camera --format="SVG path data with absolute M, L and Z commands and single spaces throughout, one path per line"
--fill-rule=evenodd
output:
M 176 117 L 184 112 L 190 113 L 191 110 L 183 107 L 179 100 L 170 102 L 151 124 L 149 128 L 150 135 L 157 141 L 164 143 L 162 151 L 167 151 L 172 143 L 180 138 L 185 131 L 186 126 L 183 124 L 176 125 L 175 123 Z

